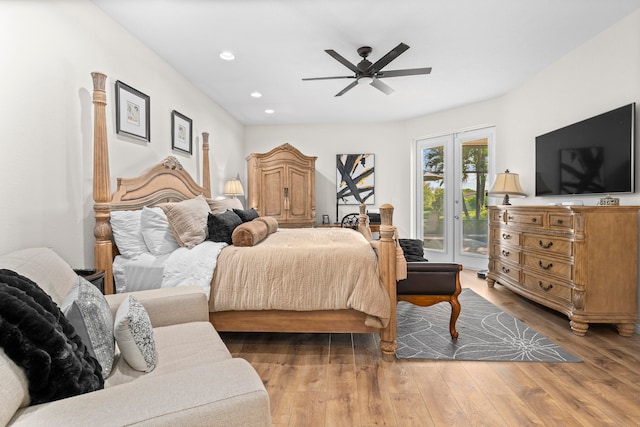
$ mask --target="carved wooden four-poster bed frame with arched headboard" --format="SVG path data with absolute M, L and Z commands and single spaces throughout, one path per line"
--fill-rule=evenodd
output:
M 106 75 L 91 73 L 94 104 L 93 198 L 95 214 L 95 268 L 105 271 L 105 293 L 114 292 L 112 262 L 117 248 L 112 240 L 111 211 L 135 210 L 167 201 L 186 200 L 198 195 L 211 197 L 208 133 L 202 133 L 203 186 L 198 185 L 173 156 L 136 178 L 118 178 L 117 190 L 110 188 L 109 153 L 106 130 Z M 396 350 L 396 241 L 393 207 L 380 207 L 380 278 L 389 293 L 391 311 L 384 329 L 365 325 L 365 314 L 356 310 L 327 311 L 227 311 L 212 312 L 209 320 L 218 331 L 229 332 L 343 332 L 380 333 L 385 360 L 395 359 Z M 359 230 L 371 239 L 364 206 L 360 209 Z

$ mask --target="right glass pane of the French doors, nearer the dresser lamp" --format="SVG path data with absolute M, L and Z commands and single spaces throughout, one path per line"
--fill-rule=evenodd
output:
M 488 210 L 486 206 L 488 141 L 462 143 L 462 245 L 465 255 L 487 255 Z

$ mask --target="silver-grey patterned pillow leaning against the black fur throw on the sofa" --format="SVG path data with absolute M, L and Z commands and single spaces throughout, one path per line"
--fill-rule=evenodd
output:
M 115 343 L 111 307 L 102 292 L 78 276 L 60 309 L 82 338 L 89 354 L 98 359 L 102 376 L 107 378 L 113 365 Z

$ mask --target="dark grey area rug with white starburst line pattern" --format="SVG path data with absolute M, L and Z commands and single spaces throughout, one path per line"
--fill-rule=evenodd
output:
M 449 334 L 451 306 L 448 303 L 418 307 L 399 302 L 396 356 L 400 359 L 581 362 L 471 289 L 463 289 L 458 299 L 462 310 L 456 323 L 457 341 Z

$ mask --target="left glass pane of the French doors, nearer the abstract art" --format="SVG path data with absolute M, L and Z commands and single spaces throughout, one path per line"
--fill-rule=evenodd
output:
M 444 250 L 444 146 L 422 150 L 424 247 Z

